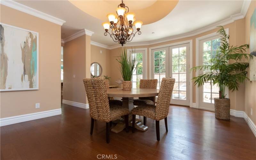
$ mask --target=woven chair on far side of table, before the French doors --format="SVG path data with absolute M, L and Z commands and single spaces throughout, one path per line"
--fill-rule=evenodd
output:
M 156 89 L 157 87 L 157 79 L 140 79 L 140 88 L 145 89 Z M 133 105 L 142 106 L 142 105 L 155 105 L 156 104 L 156 96 L 154 97 L 139 97 L 139 99 L 135 99 L 133 101 Z M 147 117 L 143 117 L 143 124 L 146 125 Z

